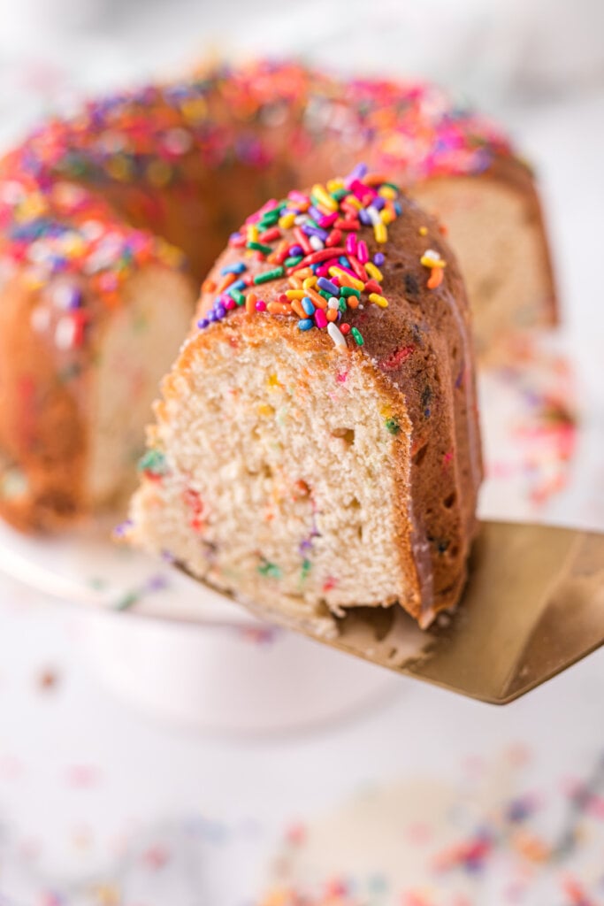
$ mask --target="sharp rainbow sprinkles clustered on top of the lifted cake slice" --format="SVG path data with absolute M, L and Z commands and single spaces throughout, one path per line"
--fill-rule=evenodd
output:
M 381 227 L 386 230 L 402 213 L 399 196 L 398 186 L 359 164 L 348 177 L 317 184 L 308 194 L 293 190 L 281 201 L 271 199 L 229 241 L 256 262 L 270 265 L 268 270 L 252 275 L 244 262 L 223 267 L 223 283 L 216 287 L 221 292 L 197 326 L 205 330 L 244 308 L 248 314 L 295 317 L 302 332 L 326 331 L 336 349 L 348 348 L 347 335 L 362 346 L 360 330 L 342 319 L 365 304 L 388 308 L 388 298 L 379 270 L 384 254 L 377 252 L 370 261 L 367 243 L 359 236 L 370 227 L 376 243 L 384 241 Z M 259 304 L 252 287 L 275 281 L 281 281 L 276 301 Z

